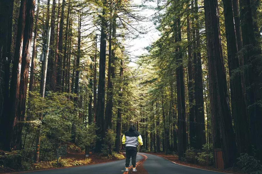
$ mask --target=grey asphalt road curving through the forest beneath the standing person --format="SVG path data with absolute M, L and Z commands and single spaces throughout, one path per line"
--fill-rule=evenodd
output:
M 174 164 L 173 162 L 166 160 L 160 156 L 146 153 L 141 154 L 148 157 L 144 162 L 144 168 L 146 169 L 148 174 L 221 174 L 219 172 L 206 171 Z M 143 157 L 141 155 L 137 155 L 137 162 L 141 159 L 143 159 Z M 26 174 L 123 174 L 124 167 L 125 160 L 119 160 L 87 166 L 32 171 L 26 172 Z

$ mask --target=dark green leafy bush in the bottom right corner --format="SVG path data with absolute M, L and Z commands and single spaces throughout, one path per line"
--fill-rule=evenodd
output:
M 246 153 L 242 153 L 240 157 L 238 157 L 238 166 L 240 171 L 245 173 L 262 173 L 262 165 L 260 164 L 260 161 L 257 160 L 254 156 L 249 156 Z

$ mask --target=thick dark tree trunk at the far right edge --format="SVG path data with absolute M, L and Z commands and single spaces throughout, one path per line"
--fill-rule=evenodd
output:
M 250 121 L 250 134 L 252 145 L 256 150 L 256 157 L 262 160 L 262 107 L 259 105 L 262 99 L 262 60 L 257 56 L 260 48 L 257 46 L 253 29 L 252 8 L 248 0 L 240 0 L 240 20 L 245 67 L 245 86 L 247 93 L 247 107 Z

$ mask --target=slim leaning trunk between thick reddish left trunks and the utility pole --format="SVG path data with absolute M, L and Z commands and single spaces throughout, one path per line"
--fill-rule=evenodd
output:
M 37 39 L 37 31 L 38 31 L 39 6 L 40 6 L 40 0 L 37 1 L 36 22 L 35 22 L 35 29 L 34 29 L 34 43 L 33 43 L 33 52 L 32 52 L 32 60 L 31 60 L 31 68 L 30 68 L 29 91 L 33 90 L 33 84 L 34 84 L 34 69 L 35 69 L 35 57 L 36 57 L 36 39 Z

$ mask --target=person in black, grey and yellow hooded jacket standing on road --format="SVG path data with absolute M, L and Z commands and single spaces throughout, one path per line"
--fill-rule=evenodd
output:
M 122 138 L 123 146 L 125 146 L 125 172 L 128 171 L 128 166 L 130 164 L 130 157 L 132 157 L 133 172 L 136 172 L 136 157 L 137 157 L 137 146 L 143 146 L 143 140 L 134 124 L 131 125 L 128 131 L 125 132 Z

